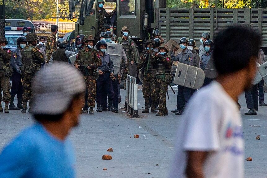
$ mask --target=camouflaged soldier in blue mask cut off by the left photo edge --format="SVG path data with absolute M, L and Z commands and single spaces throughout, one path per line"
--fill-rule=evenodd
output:
M 11 76 L 11 70 L 9 67 L 9 60 L 11 57 L 11 50 L 6 48 L 7 39 L 0 37 L 0 112 L 3 112 L 1 102 L 5 102 L 5 113 L 9 113 L 8 104 L 11 102 L 11 96 L 9 93 L 10 83 L 9 77 Z M 3 91 L 3 96 L 1 92 Z

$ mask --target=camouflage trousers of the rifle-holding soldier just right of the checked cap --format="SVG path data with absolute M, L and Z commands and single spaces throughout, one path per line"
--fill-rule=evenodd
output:
M 87 104 L 88 107 L 95 106 L 95 95 L 96 95 L 96 77 L 84 76 L 86 89 L 88 89 Z M 85 93 L 83 95 L 83 106 L 85 105 Z

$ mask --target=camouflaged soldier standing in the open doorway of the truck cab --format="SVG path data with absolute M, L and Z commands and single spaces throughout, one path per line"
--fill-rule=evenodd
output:
M 97 37 L 101 32 L 106 32 L 107 28 L 104 27 L 104 19 L 110 18 L 113 16 L 113 14 L 116 12 L 116 9 L 114 9 L 112 12 L 107 13 L 107 11 L 103 8 L 103 5 L 105 4 L 104 0 L 98 0 L 97 1 L 97 9 L 98 9 L 98 21 L 97 21 Z

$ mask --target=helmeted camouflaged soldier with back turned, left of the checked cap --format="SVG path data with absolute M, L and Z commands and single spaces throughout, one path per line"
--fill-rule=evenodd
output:
M 23 77 L 23 94 L 22 102 L 23 109 L 21 112 L 27 111 L 27 102 L 29 100 L 29 106 L 31 104 L 32 93 L 31 93 L 31 83 L 36 72 L 41 69 L 41 63 L 44 63 L 44 56 L 37 47 L 38 37 L 36 33 L 29 33 L 26 36 L 28 44 L 23 48 L 21 72 Z

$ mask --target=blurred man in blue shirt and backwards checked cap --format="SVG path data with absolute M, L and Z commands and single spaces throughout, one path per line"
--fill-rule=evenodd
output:
M 68 134 L 79 124 L 84 80 L 78 70 L 55 63 L 37 73 L 32 88 L 36 123 L 2 150 L 0 177 L 75 177 Z

